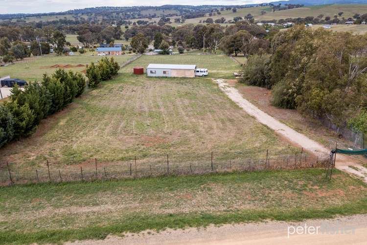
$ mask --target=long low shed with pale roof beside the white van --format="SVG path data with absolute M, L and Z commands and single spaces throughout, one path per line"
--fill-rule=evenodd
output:
M 148 76 L 195 77 L 196 65 L 149 64 Z

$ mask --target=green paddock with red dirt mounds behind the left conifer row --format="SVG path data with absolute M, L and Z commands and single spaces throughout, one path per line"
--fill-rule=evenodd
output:
M 25 79 L 27 81 L 34 81 L 36 79 L 41 79 L 44 73 L 51 74 L 57 68 L 64 68 L 67 70 L 73 70 L 81 72 L 86 69 L 86 65 L 91 62 L 97 62 L 101 59 L 101 56 L 79 54 L 76 52 L 72 56 L 42 56 L 42 57 L 31 57 L 26 58 L 24 61 L 16 63 L 14 65 L 9 65 L 8 67 L 1 67 L 0 77 L 10 75 L 12 78 Z M 102 56 L 103 57 L 103 56 Z M 114 59 L 122 64 L 132 55 L 115 55 Z

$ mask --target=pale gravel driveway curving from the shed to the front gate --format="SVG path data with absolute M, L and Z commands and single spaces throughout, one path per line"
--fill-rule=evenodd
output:
M 287 140 L 293 144 L 303 147 L 303 149 L 312 152 L 315 155 L 325 157 L 327 154 L 329 154 L 330 150 L 326 147 L 323 147 L 318 142 L 311 140 L 301 133 L 298 133 L 296 130 L 285 125 L 284 123 L 279 122 L 269 114 L 258 109 L 250 101 L 243 98 L 236 88 L 229 86 L 224 79 L 216 79 L 215 82 L 233 102 L 245 110 L 249 115 L 254 117 L 258 122 L 270 127 L 278 134 L 287 138 Z M 350 166 L 353 166 L 353 168 Z M 367 183 L 367 169 L 362 165 L 352 161 L 350 158 L 340 154 L 337 155 L 335 167 L 344 172 L 355 174 L 361 177 Z

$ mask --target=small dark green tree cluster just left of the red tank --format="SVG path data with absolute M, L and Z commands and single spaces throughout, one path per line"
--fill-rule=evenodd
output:
M 93 62 L 86 69 L 86 76 L 88 77 L 88 86 L 96 88 L 101 81 L 106 81 L 116 75 L 120 70 L 120 65 L 114 60 L 103 57 L 95 65 Z

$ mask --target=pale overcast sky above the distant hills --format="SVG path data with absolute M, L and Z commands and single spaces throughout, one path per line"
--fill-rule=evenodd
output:
M 60 12 L 76 8 L 88 8 L 98 6 L 136 6 L 182 4 L 182 5 L 242 5 L 261 3 L 266 0 L 0 0 L 0 13 L 45 13 Z

